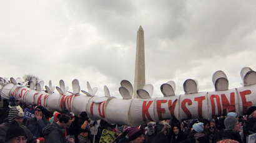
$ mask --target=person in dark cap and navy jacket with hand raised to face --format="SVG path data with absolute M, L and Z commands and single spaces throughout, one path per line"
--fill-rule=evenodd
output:
M 26 126 L 36 137 L 42 136 L 42 129 L 50 124 L 49 120 L 44 117 L 44 107 L 36 106 L 34 118 L 30 118 L 26 122 Z

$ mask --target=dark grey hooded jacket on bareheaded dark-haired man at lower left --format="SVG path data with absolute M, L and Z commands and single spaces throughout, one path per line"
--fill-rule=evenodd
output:
M 49 124 L 42 129 L 42 134 L 44 134 L 45 143 L 65 142 L 65 129 L 62 129 L 56 122 L 52 122 L 52 124 Z

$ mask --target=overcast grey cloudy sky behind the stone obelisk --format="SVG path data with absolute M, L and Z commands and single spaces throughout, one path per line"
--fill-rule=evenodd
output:
M 6 1 L 0 0 L 0 76 L 38 76 L 48 85 L 75 78 L 104 96 L 121 98 L 121 80 L 134 85 L 139 26 L 145 37 L 146 84 L 198 81 L 214 91 L 212 75 L 240 87 L 240 70 L 256 70 L 255 1 Z M 56 91 L 56 90 L 55 90 Z

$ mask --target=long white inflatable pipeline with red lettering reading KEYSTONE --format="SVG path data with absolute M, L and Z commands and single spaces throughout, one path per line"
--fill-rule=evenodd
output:
M 103 119 L 111 124 L 126 124 L 139 126 L 143 122 L 161 121 L 162 119 L 214 119 L 225 116 L 229 112 L 239 115 L 245 114 L 247 108 L 256 106 L 256 72 L 249 67 L 242 68 L 240 72 L 243 83 L 241 87 L 229 89 L 229 81 L 223 71 L 216 71 L 212 76 L 215 91 L 199 92 L 196 80 L 184 82 L 184 95 L 175 95 L 174 81 L 168 81 L 160 86 L 163 97 L 152 98 L 153 86 L 145 85 L 137 90 L 139 98 L 132 99 L 133 87 L 127 80 L 121 81 L 119 93 L 122 99 L 111 97 L 109 89 L 104 86 L 104 97 L 96 96 L 97 88 L 91 88 L 87 82 L 88 91 L 80 94 L 78 80 L 72 81 L 73 92 L 69 92 L 64 81 L 59 81 L 55 87 L 51 80 L 46 90 L 42 90 L 44 82 L 30 81 L 18 83 L 20 78 L 7 83 L 1 90 L 1 97 L 9 99 L 14 96 L 27 103 L 44 106 L 49 111 L 69 109 L 76 115 L 86 111 L 92 120 Z M 34 84 L 36 83 L 36 84 Z

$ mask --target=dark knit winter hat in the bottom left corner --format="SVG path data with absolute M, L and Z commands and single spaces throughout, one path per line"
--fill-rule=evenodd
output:
M 9 141 L 9 139 L 12 139 L 13 137 L 17 136 L 27 137 L 24 129 L 21 126 L 19 126 L 19 123 L 17 121 L 14 120 L 10 123 L 9 127 L 7 128 L 6 142 Z

